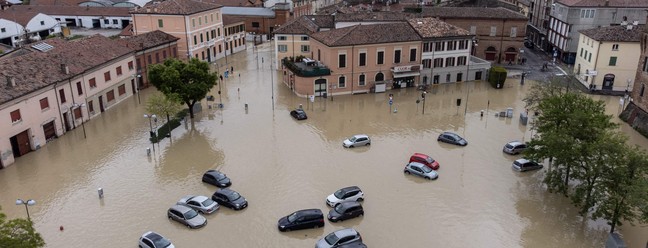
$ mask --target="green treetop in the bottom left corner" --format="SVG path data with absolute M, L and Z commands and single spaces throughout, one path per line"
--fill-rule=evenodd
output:
M 36 232 L 31 221 L 25 219 L 7 220 L 7 216 L 0 212 L 0 247 L 37 248 L 43 246 L 45 246 L 45 241 Z

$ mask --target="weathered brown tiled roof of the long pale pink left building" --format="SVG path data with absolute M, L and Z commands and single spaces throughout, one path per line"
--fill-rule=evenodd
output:
M 102 35 L 73 41 L 54 38 L 36 44 L 41 43 L 54 48 L 0 59 L 0 104 L 131 53 L 129 48 Z M 63 73 L 61 64 L 68 66 L 69 74 Z M 7 77 L 12 77 L 16 86 L 7 84 Z

